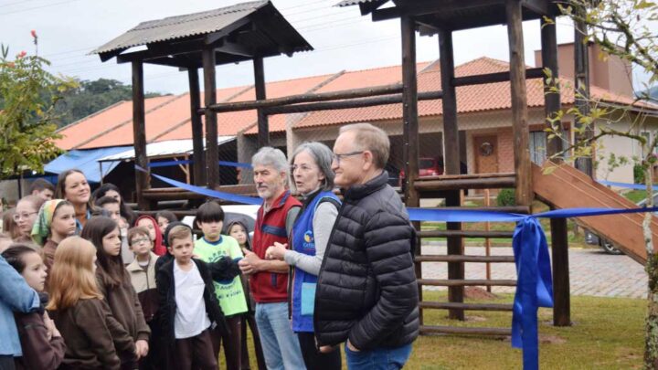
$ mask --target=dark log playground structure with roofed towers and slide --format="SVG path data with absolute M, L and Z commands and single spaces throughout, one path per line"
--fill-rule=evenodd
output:
M 525 79 L 541 79 L 544 69 L 550 69 L 553 76 L 557 70 L 557 36 L 555 19 L 557 5 L 548 0 L 393 0 L 391 6 L 382 7 L 388 0 L 345 0 L 339 5 L 358 5 L 363 16 L 371 16 L 373 21 L 399 18 L 402 40 L 402 82 L 376 88 L 342 90 L 330 93 L 308 93 L 278 99 L 267 99 L 263 58 L 295 52 L 310 51 L 313 47 L 300 35 L 270 1 L 255 1 L 205 12 L 205 14 L 177 16 L 162 20 L 144 22 L 132 30 L 115 38 L 95 50 L 106 61 L 116 57 L 119 63 L 131 63 L 133 68 L 133 134 L 135 164 L 148 168 L 146 142 L 144 137 L 144 89 L 143 64 L 153 63 L 178 69 L 186 69 L 191 96 L 190 115 L 194 142 L 193 183 L 205 185 L 237 194 L 255 193 L 252 185 L 221 186 L 218 170 L 218 122 L 219 112 L 258 111 L 258 143 L 268 145 L 268 116 L 289 112 L 340 110 L 367 107 L 380 104 L 399 103 L 403 107 L 404 138 L 404 200 L 407 206 L 417 207 L 421 198 L 445 198 L 446 207 L 462 208 L 461 193 L 469 189 L 514 188 L 516 206 L 469 207 L 468 209 L 532 213 L 532 202 L 536 195 L 549 206 L 574 206 L 568 198 L 556 194 L 556 186 L 575 184 L 577 189 L 585 189 L 591 180 L 591 164 L 581 161 L 579 167 L 586 174 L 572 174 L 572 168 L 565 169 L 572 178 L 560 181 L 547 180 L 541 170 L 534 168 L 530 160 L 528 111 Z M 206 16 L 203 16 L 206 15 Z M 542 63 L 541 68 L 526 69 L 524 57 L 524 35 L 522 22 L 541 20 Z M 210 24 L 210 22 L 213 22 Z M 456 78 L 454 73 L 452 33 L 454 31 L 507 25 L 509 41 L 510 70 L 504 73 Z M 182 25 L 182 26 L 181 26 Z M 421 35 L 438 36 L 440 46 L 441 86 L 436 90 L 419 93 L 417 87 L 416 32 Z M 588 67 L 587 48 L 582 47 L 578 37 L 576 71 L 577 89 L 587 94 Z M 146 46 L 132 51 L 133 47 Z M 252 60 L 256 89 L 256 100 L 218 103 L 216 97 L 216 66 Z M 204 105 L 201 105 L 198 69 L 203 69 Z M 506 174 L 461 174 L 460 140 L 457 117 L 456 88 L 461 86 L 488 84 L 501 81 L 511 82 L 512 117 L 514 135 L 515 172 Z M 547 88 L 547 87 L 546 87 Z M 585 95 L 587 96 L 587 95 Z M 442 101 L 444 174 L 432 177 L 419 177 L 419 148 L 411 143 L 419 140 L 419 100 Z M 555 116 L 560 110 L 558 94 L 546 94 L 546 116 Z M 583 107 L 587 103 L 581 102 Z M 586 108 L 584 108 L 586 109 Z M 201 117 L 205 118 L 205 124 Z M 205 130 L 204 130 L 205 129 Z M 204 132 L 205 131 L 205 132 Z M 204 145 L 205 143 L 205 145 Z M 558 140 L 547 142 L 547 154 L 561 152 Z M 569 172 L 571 171 L 571 172 Z M 574 177 L 575 176 L 575 177 Z M 141 209 L 154 209 L 158 200 L 202 199 L 177 188 L 151 189 L 149 174 L 136 171 L 137 202 Z M 576 180 L 574 180 L 576 179 Z M 603 186 L 600 186 L 603 187 Z M 599 189 L 600 190 L 600 189 Z M 604 190 L 608 190 L 605 189 Z M 601 194 L 605 193 L 600 190 Z M 610 190 L 608 190 L 610 192 Z M 610 192 L 611 193 L 611 192 Z M 603 200 L 615 199 L 616 195 L 605 193 Z M 617 196 L 618 197 L 618 196 Z M 571 197 L 573 198 L 573 196 Z M 584 198 L 583 198 L 584 199 Z M 589 201 L 589 203 L 588 203 Z M 598 202 L 598 203 L 597 203 Z M 628 203 L 609 202 L 609 206 L 633 206 Z M 599 198 L 582 200 L 578 206 L 600 206 Z M 637 215 L 628 218 L 629 223 L 637 221 Z M 636 237 L 606 231 L 603 224 L 606 217 L 591 221 L 588 226 L 605 233 L 621 246 L 636 245 Z M 589 222 L 589 220 L 588 220 Z M 626 221 L 624 221 L 626 222 Z M 446 238 L 447 255 L 425 255 L 417 250 L 416 273 L 419 278 L 421 298 L 421 333 L 456 333 L 480 335 L 509 335 L 509 328 L 468 328 L 436 326 L 422 322 L 422 310 L 448 310 L 449 317 L 464 320 L 466 311 L 512 311 L 509 304 L 467 303 L 464 302 L 466 286 L 515 286 L 515 280 L 468 280 L 465 278 L 466 263 L 514 263 L 512 257 L 469 256 L 464 254 L 464 238 L 512 238 L 512 232 L 472 231 L 462 229 L 461 223 L 448 223 L 446 230 L 421 231 L 419 238 Z M 624 225 L 619 227 L 622 230 Z M 658 232 L 658 225 L 654 225 Z M 613 227 L 614 228 L 614 227 Z M 609 235 L 610 234 L 610 235 Z M 613 235 L 614 234 L 614 235 Z M 552 269 L 554 278 L 554 324 L 570 325 L 569 277 L 568 277 L 568 238 L 567 221 L 551 220 Z M 657 234 L 658 235 L 658 234 Z M 642 235 L 640 234 L 640 237 Z M 658 238 L 656 238 L 658 240 Z M 642 244 L 641 244 L 642 245 Z M 642 247 L 643 248 L 643 247 Z M 642 248 L 631 248 L 629 255 L 642 261 Z M 448 263 L 448 279 L 422 279 L 425 262 Z M 424 301 L 422 287 L 447 287 L 448 301 Z

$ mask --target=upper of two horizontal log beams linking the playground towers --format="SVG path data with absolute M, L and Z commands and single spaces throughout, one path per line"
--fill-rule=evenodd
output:
M 208 107 L 212 111 L 223 113 L 227 111 L 249 111 L 258 108 L 281 107 L 284 105 L 297 104 L 302 102 L 316 102 L 328 100 L 348 100 L 378 95 L 388 95 L 402 92 L 402 84 L 395 83 L 391 85 L 376 86 L 370 88 L 340 90 L 320 93 L 304 93 L 298 95 L 289 95 L 283 98 L 249 100 L 218 103 Z M 203 113 L 205 110 L 200 110 Z

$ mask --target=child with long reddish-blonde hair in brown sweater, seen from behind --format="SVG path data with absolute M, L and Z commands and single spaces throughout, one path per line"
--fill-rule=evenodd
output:
M 67 344 L 60 369 L 119 369 L 117 353 L 135 350 L 133 339 L 102 301 L 95 262 L 96 248 L 79 237 L 62 240 L 55 252 L 46 308 Z

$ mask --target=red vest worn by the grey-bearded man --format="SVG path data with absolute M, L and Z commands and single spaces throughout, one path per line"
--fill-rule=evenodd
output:
M 274 245 L 275 241 L 281 244 L 288 242 L 286 216 L 295 206 L 302 204 L 291 196 L 289 191 L 276 198 L 267 213 L 264 213 L 263 207 L 260 206 L 253 237 L 253 252 L 260 259 L 265 259 L 265 251 Z M 288 274 L 257 272 L 249 277 L 249 288 L 254 301 L 258 303 L 288 301 Z

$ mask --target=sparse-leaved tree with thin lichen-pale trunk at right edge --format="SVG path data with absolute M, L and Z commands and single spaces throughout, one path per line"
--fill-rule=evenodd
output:
M 567 0 L 560 8 L 563 15 L 574 20 L 578 32 L 584 35 L 584 42 L 594 42 L 600 46 L 602 54 L 598 58 L 616 56 L 629 61 L 649 75 L 649 82 L 642 92 L 635 93 L 636 100 L 625 107 L 591 100 L 577 91 L 578 98 L 589 100 L 589 111 L 574 107 L 559 112 L 555 117 L 548 117 L 548 122 L 552 122 L 552 127 L 547 129 L 548 137 L 568 143 L 567 138 L 562 137 L 557 122 L 565 114 L 572 114 L 577 123 L 573 130 L 580 140 L 567 149 L 573 151 L 570 158 L 591 157 L 600 147 L 599 139 L 604 136 L 626 137 L 638 143 L 642 147 L 642 156 L 637 165 L 646 185 L 647 206 L 653 206 L 653 167 L 657 164 L 653 153 L 658 145 L 658 132 L 648 126 L 647 115 L 642 112 L 642 108 L 646 107 L 646 102 L 658 102 L 651 94 L 651 86 L 658 82 L 658 5 L 647 0 Z M 559 90 L 558 80 L 550 73 L 547 73 L 547 81 L 553 84 L 551 91 Z M 628 130 L 615 128 L 614 124 L 621 120 L 631 122 Z M 593 133 L 588 135 L 586 132 Z M 653 132 L 653 140 L 642 135 L 642 132 Z M 563 154 L 558 153 L 557 156 Z M 627 161 L 613 155 L 610 153 L 609 163 L 610 160 Z M 652 217 L 651 213 L 646 213 L 642 223 L 647 254 L 645 270 L 648 275 L 644 352 L 646 369 L 658 369 L 658 256 L 653 250 Z

